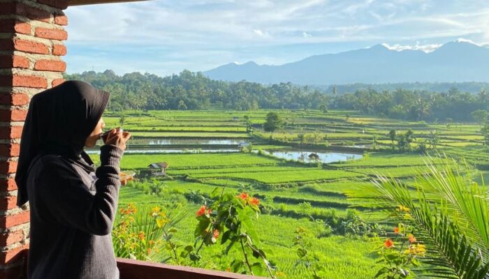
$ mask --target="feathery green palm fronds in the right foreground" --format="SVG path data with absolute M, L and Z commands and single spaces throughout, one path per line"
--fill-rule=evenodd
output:
M 373 183 L 347 195 L 389 213 L 393 217 L 387 224 L 414 227 L 412 233 L 426 246 L 421 257 L 425 265 L 418 267 L 423 276 L 487 279 L 489 194 L 486 186 L 468 178 L 467 168 L 463 171 L 455 160 L 430 158 L 414 184 L 379 174 Z

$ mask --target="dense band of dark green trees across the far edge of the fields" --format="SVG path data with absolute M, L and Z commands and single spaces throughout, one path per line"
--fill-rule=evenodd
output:
M 472 121 L 472 112 L 487 110 L 489 94 L 462 92 L 452 87 L 434 92 L 418 89 L 359 89 L 351 93 L 326 93 L 311 86 L 289 83 L 258 84 L 210 80 L 202 73 L 184 70 L 159 77 L 149 73 L 116 75 L 88 71 L 64 75 L 66 80 L 83 80 L 110 91 L 108 109 L 120 110 L 257 110 L 315 109 L 357 110 L 366 114 L 411 121 Z

